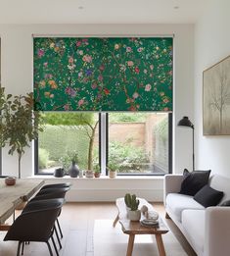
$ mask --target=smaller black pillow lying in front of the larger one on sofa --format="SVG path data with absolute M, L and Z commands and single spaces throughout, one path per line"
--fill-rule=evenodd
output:
M 198 191 L 194 200 L 203 205 L 204 207 L 217 205 L 223 197 L 223 192 L 215 190 L 209 185 L 205 185 L 200 191 Z

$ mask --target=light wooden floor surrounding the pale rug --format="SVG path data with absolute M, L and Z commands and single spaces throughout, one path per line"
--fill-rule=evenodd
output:
M 163 205 L 155 203 L 154 206 L 161 214 L 161 217 L 164 217 Z M 67 203 L 63 207 L 60 218 L 64 231 L 63 249 L 60 251 L 60 256 L 93 256 L 94 221 L 99 219 L 115 219 L 116 213 L 115 203 Z M 189 256 L 196 256 L 191 246 L 172 221 L 165 220 L 165 222 L 170 230 L 173 231 L 186 253 Z M 4 236 L 5 232 L 0 232 L 0 256 L 15 256 L 17 242 L 4 242 Z M 30 243 L 25 246 L 24 256 L 27 255 L 45 256 L 49 255 L 49 253 L 45 244 Z M 170 256 L 173 256 L 173 254 Z

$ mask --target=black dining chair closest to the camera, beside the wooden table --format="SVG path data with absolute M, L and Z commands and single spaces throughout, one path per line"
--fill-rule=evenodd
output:
M 56 198 L 41 200 L 26 206 L 26 209 L 24 209 L 23 213 L 16 219 L 4 238 L 4 241 L 19 241 L 17 256 L 20 255 L 22 243 L 27 241 L 45 242 L 50 255 L 53 256 L 49 243 L 50 238 L 57 255 L 59 255 L 53 233 L 55 221 L 58 218 L 64 201 L 63 198 Z

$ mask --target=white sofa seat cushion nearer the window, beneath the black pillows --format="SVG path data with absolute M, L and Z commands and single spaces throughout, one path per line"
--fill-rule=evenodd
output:
M 166 207 L 170 209 L 178 222 L 181 222 L 181 213 L 185 209 L 205 209 L 192 196 L 179 193 L 169 193 L 166 196 Z

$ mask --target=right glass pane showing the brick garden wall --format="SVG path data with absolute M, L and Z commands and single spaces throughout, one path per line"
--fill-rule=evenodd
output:
M 119 173 L 168 173 L 168 114 L 110 113 L 109 168 Z

